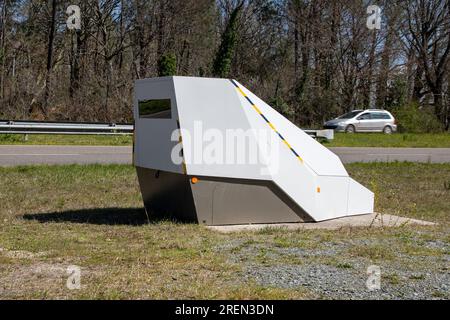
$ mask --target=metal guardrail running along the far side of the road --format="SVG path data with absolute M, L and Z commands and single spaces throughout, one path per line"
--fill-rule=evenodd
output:
M 115 123 L 0 120 L 0 134 L 131 135 L 134 125 Z M 315 139 L 334 139 L 333 130 L 304 130 Z

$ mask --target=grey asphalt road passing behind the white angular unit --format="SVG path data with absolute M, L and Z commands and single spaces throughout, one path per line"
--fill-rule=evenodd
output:
M 0 166 L 131 163 L 131 147 L 0 146 Z M 331 148 L 344 163 L 411 161 L 450 163 L 450 148 Z

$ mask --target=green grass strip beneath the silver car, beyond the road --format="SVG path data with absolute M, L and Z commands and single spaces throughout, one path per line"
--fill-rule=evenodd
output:
M 336 133 L 327 147 L 450 148 L 450 133 Z

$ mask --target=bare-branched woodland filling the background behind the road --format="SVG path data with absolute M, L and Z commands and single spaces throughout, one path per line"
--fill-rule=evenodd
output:
M 181 75 L 235 78 L 303 127 L 385 108 L 443 131 L 449 60 L 450 0 L 0 0 L 3 119 L 132 122 L 135 79 Z

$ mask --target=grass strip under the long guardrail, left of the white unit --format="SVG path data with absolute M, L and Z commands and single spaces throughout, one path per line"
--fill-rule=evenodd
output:
M 132 144 L 131 136 L 100 135 L 25 135 L 0 134 L 0 145 L 79 145 L 79 146 L 126 146 Z

